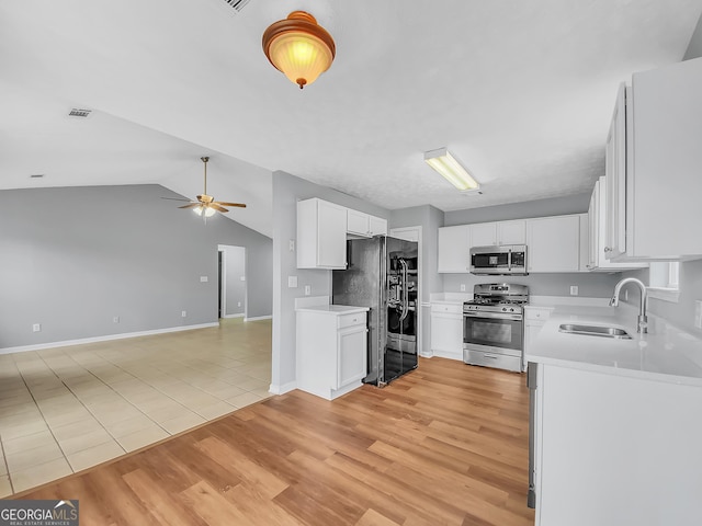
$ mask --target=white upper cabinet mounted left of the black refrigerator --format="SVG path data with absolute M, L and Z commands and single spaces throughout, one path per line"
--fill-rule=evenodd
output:
M 297 202 L 297 268 L 347 267 L 347 208 L 313 198 Z

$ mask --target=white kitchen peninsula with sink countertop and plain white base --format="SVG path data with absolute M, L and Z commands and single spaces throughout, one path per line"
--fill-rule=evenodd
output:
M 536 525 L 697 524 L 702 516 L 698 338 L 631 307 L 556 307 L 528 351 Z M 631 339 L 562 332 L 623 329 Z

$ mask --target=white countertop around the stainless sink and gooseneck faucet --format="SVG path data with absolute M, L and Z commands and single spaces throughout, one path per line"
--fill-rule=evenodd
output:
M 555 306 L 526 353 L 528 362 L 702 387 L 702 340 L 649 316 L 649 333 L 636 332 L 638 309 Z M 562 323 L 625 329 L 632 340 L 567 334 Z

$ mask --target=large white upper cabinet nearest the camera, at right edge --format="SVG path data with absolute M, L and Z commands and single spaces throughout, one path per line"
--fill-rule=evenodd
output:
M 607 142 L 613 260 L 702 256 L 702 58 L 635 73 Z M 605 250 L 607 250 L 605 249 Z

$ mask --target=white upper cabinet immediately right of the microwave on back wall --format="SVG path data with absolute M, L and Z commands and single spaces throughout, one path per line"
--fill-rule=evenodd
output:
M 529 272 L 580 271 L 580 216 L 554 216 L 526 221 Z

